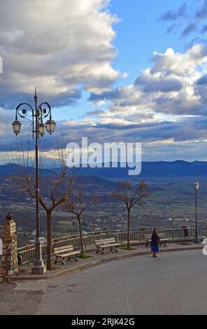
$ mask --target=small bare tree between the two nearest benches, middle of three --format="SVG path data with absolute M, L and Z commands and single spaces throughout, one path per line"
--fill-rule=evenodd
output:
M 83 251 L 83 234 L 82 234 L 82 225 L 81 220 L 83 213 L 86 209 L 91 207 L 92 205 L 96 204 L 98 200 L 97 196 L 90 197 L 88 199 L 85 197 L 85 193 L 83 190 L 78 191 L 78 201 L 75 202 L 71 200 L 71 197 L 68 199 L 68 201 L 64 204 L 64 207 L 71 213 L 76 215 L 76 218 L 78 219 L 78 228 L 79 228 L 79 234 L 80 234 L 80 247 L 81 247 L 81 255 L 84 255 Z

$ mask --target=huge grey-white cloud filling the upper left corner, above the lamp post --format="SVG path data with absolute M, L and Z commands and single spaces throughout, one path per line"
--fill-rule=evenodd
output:
M 0 105 L 13 106 L 17 94 L 32 94 L 34 85 L 55 105 L 78 99 L 80 85 L 94 92 L 108 88 L 119 75 L 110 66 L 117 19 L 108 3 L 0 0 Z

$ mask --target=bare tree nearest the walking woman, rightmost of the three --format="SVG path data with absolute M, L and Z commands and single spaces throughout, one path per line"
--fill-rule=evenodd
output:
M 115 200 L 123 202 L 127 209 L 127 248 L 129 249 L 129 228 L 131 209 L 136 205 L 143 206 L 145 199 L 150 195 L 149 188 L 145 181 L 141 181 L 136 186 L 131 181 L 123 181 L 118 183 L 120 192 L 113 192 L 112 196 Z

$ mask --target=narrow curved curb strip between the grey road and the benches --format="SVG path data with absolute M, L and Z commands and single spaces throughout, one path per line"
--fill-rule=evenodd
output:
M 160 250 L 160 253 L 167 253 L 173 251 L 192 251 L 197 249 L 202 249 L 204 246 L 192 246 L 189 248 L 170 248 L 166 250 Z M 134 253 L 125 253 L 124 255 L 115 255 L 114 257 L 110 258 L 103 258 L 99 260 L 94 260 L 85 264 L 76 265 L 74 267 L 66 268 L 66 269 L 57 269 L 55 273 L 51 274 L 43 274 L 43 275 L 35 275 L 35 276 L 9 276 L 10 281 L 18 281 L 18 280 L 48 280 L 56 278 L 57 276 L 61 276 L 70 272 L 78 271 L 79 269 L 84 269 L 85 267 L 93 267 L 99 265 L 104 262 L 112 262 L 113 260 L 120 260 L 122 258 L 129 258 L 134 256 L 141 256 L 141 255 L 150 255 L 151 251 L 142 251 L 142 252 L 134 252 Z

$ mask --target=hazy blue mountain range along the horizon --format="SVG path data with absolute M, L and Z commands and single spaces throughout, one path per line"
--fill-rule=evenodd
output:
M 24 168 L 18 165 L 1 165 L 0 175 L 10 175 L 15 172 L 23 172 Z M 134 176 L 128 176 L 129 168 L 80 168 L 78 176 L 99 176 L 102 179 L 132 179 Z M 55 169 L 43 169 L 44 176 L 53 176 Z M 158 162 L 142 162 L 141 174 L 138 178 L 156 178 L 156 177 L 179 177 L 179 176 L 207 176 L 207 162 L 205 161 L 158 161 Z

